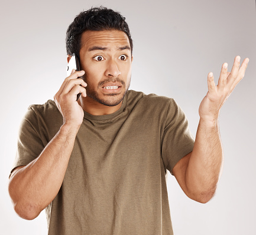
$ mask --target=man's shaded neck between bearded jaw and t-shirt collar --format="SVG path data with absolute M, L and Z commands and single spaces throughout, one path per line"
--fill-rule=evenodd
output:
M 92 115 L 112 114 L 113 112 L 118 111 L 119 108 L 121 108 L 122 106 L 122 101 L 118 105 L 107 106 L 104 104 L 100 104 L 99 102 L 93 100 L 93 98 L 82 96 L 80 96 L 77 102 L 83 108 L 83 110 Z

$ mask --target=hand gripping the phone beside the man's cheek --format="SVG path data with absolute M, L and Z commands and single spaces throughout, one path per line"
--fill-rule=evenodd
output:
M 79 126 L 83 122 L 83 109 L 76 101 L 77 94 L 81 93 L 86 97 L 86 82 L 82 78 L 78 78 L 85 74 L 85 71 L 75 71 L 73 69 L 69 77 L 67 77 L 60 87 L 60 90 L 54 95 L 54 101 L 61 115 L 63 116 L 63 124 Z

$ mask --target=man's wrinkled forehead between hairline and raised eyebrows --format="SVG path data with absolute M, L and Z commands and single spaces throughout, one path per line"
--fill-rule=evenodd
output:
M 95 46 L 99 47 L 123 47 L 130 46 L 125 32 L 119 30 L 85 31 L 81 37 L 81 49 L 86 51 Z

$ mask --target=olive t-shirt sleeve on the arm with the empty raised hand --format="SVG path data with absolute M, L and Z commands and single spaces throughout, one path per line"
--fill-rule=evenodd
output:
M 195 139 L 190 133 L 186 115 L 179 105 L 171 99 L 166 114 L 161 145 L 164 168 L 172 174 L 173 167 L 193 150 L 194 143 Z

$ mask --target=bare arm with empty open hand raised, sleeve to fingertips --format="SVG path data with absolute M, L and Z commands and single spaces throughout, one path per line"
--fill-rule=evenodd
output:
M 223 164 L 219 112 L 244 77 L 248 62 L 249 59 L 245 58 L 240 67 L 240 57 L 237 56 L 231 72 L 228 72 L 228 64 L 224 63 L 218 85 L 215 85 L 212 72 L 208 74 L 208 93 L 199 107 L 200 121 L 193 151 L 173 168 L 184 193 L 200 203 L 208 202 L 218 186 Z

